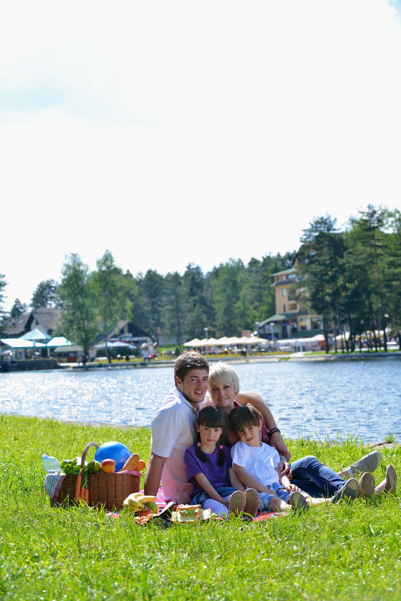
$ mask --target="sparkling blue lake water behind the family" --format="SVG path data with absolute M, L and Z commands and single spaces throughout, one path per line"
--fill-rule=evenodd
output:
M 288 438 L 348 432 L 379 442 L 401 433 L 400 359 L 234 368 L 241 389 L 262 395 Z M 173 385 L 173 367 L 11 372 L 0 376 L 0 413 L 149 426 Z

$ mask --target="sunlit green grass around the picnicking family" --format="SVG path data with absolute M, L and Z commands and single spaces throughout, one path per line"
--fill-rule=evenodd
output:
M 0 599 L 400 599 L 398 492 L 262 523 L 169 529 L 51 507 L 41 454 L 72 457 L 113 439 L 147 459 L 148 429 L 0 415 Z M 341 446 L 288 442 L 293 459 L 314 454 L 335 469 L 368 450 L 352 436 Z M 400 447 L 381 454 L 376 480 L 388 463 L 400 474 Z

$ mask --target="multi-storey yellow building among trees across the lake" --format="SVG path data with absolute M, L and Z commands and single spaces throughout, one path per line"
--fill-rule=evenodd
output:
M 308 310 L 296 301 L 296 296 L 307 294 L 305 279 L 299 282 L 298 293 L 293 292 L 293 284 L 298 281 L 296 267 L 272 273 L 275 291 L 275 315 L 259 323 L 259 332 L 266 338 L 302 338 L 322 334 L 320 316 L 310 315 Z

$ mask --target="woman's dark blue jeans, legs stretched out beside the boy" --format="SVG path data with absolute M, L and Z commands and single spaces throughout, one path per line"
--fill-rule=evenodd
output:
M 332 496 L 344 486 L 345 480 L 313 455 L 302 457 L 290 463 L 291 483 L 299 486 L 310 496 Z

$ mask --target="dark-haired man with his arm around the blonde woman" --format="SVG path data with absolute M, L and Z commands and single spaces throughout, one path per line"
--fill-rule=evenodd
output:
M 173 388 L 162 402 L 152 421 L 151 453 L 145 477 L 145 495 L 156 495 L 162 481 L 166 501 L 188 503 L 192 490 L 185 477 L 184 453 L 195 442 L 195 418 L 207 392 L 209 364 L 199 353 L 184 353 L 174 365 Z M 265 418 L 271 435 L 271 444 L 290 459 L 280 430 L 263 398 L 255 392 L 240 392 L 239 404 L 251 403 Z

